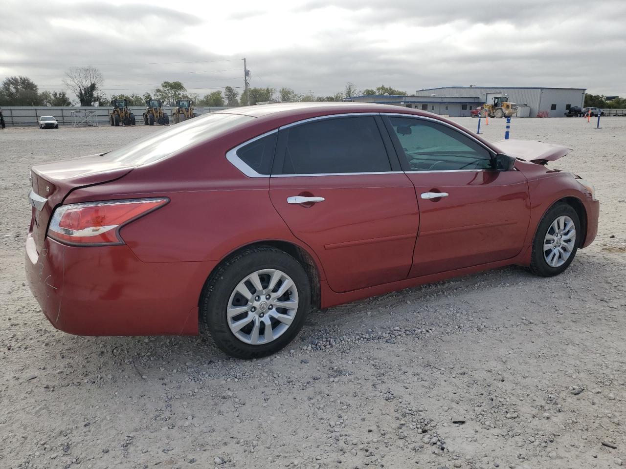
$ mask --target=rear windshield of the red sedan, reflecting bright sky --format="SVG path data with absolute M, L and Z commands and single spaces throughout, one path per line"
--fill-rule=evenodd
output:
M 239 114 L 205 114 L 116 148 L 106 153 L 106 158 L 132 165 L 154 163 L 182 148 L 207 141 L 252 119 L 254 118 Z

